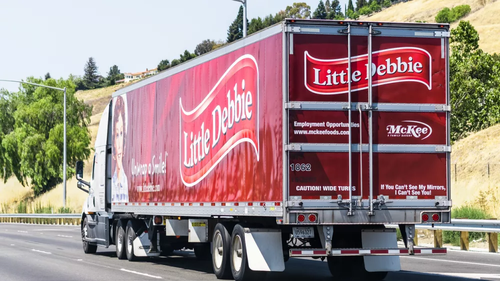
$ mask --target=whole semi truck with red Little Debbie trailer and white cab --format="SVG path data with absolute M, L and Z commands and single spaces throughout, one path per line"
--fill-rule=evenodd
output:
M 76 163 L 87 254 L 381 280 L 450 222 L 449 25 L 285 19 L 123 87 Z M 398 245 L 397 225 L 404 245 Z

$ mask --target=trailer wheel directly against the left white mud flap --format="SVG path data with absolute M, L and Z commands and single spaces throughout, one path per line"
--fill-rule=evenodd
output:
M 262 280 L 266 272 L 252 271 L 248 267 L 243 227 L 234 226 L 231 239 L 231 271 L 235 281 Z

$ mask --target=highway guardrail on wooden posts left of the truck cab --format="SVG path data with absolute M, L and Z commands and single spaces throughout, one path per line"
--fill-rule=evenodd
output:
M 80 214 L 0 214 L 0 223 L 80 225 Z

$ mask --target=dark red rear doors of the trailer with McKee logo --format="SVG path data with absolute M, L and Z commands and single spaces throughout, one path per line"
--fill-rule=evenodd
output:
M 449 33 L 334 24 L 287 29 L 290 205 L 449 206 Z

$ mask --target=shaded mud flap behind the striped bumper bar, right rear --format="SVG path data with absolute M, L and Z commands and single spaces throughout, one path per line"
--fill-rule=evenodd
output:
M 361 242 L 365 249 L 394 249 L 397 248 L 396 231 L 394 229 L 362 230 Z M 398 256 L 364 256 L 363 258 L 364 268 L 368 272 L 401 270 Z

